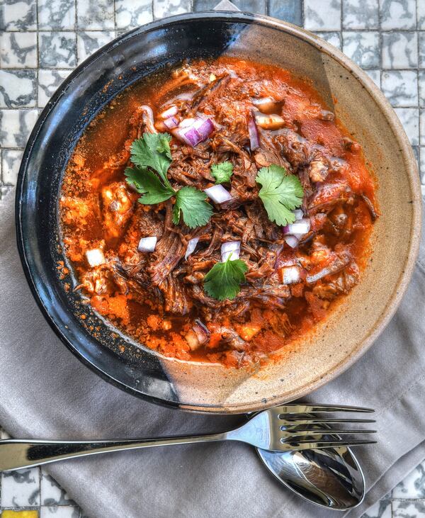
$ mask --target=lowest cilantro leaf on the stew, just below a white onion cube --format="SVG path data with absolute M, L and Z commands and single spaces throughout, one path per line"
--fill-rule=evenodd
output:
M 232 299 L 240 291 L 245 281 L 248 266 L 241 259 L 231 260 L 229 256 L 224 263 L 216 263 L 204 278 L 204 290 L 217 300 Z

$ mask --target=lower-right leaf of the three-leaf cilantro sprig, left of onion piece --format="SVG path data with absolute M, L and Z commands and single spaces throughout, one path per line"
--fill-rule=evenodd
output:
M 208 223 L 212 214 L 212 206 L 205 200 L 207 195 L 194 187 L 182 187 L 176 192 L 176 204 L 173 210 L 173 223 L 178 225 L 180 212 L 183 221 L 189 228 L 202 227 Z

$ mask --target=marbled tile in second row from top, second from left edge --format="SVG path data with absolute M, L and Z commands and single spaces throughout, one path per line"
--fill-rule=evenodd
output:
M 38 52 L 41 68 L 74 68 L 77 65 L 75 33 L 39 33 Z

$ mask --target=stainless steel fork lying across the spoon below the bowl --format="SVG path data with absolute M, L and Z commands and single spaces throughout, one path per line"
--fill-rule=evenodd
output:
M 312 424 L 365 423 L 364 419 L 318 417 L 317 412 L 373 412 L 370 408 L 333 405 L 288 404 L 263 410 L 239 428 L 220 434 L 107 441 L 47 441 L 5 439 L 0 441 L 0 471 L 38 466 L 65 458 L 110 451 L 152 448 L 210 441 L 242 441 L 269 451 L 295 451 L 338 446 L 358 446 L 376 441 L 341 439 L 340 434 L 370 434 L 363 429 L 309 429 Z

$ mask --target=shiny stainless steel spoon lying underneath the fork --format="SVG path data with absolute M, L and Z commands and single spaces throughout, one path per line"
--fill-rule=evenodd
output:
M 329 427 L 323 439 L 336 438 Z M 286 488 L 314 505 L 345 510 L 359 505 L 365 495 L 365 479 L 356 457 L 346 447 L 305 451 L 266 451 L 256 448 L 264 465 Z

